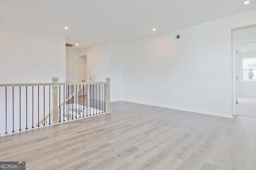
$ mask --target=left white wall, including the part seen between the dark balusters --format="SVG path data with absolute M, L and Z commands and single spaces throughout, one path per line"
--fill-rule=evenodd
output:
M 0 84 L 8 83 L 47 83 L 52 77 L 58 77 L 59 82 L 65 82 L 66 56 L 65 37 L 46 33 L 27 27 L 0 23 Z M 49 87 L 46 86 L 46 101 Z M 51 90 L 51 88 L 50 88 Z M 40 87 L 40 108 L 46 108 L 43 103 L 43 88 Z M 12 117 L 12 87 L 7 88 L 7 129 L 19 128 L 19 88 L 14 88 L 14 118 Z M 21 128 L 26 127 L 26 87 L 21 88 Z M 34 87 L 34 102 L 37 103 L 38 87 Z M 28 127 L 32 127 L 32 87 L 28 87 Z M 5 87 L 0 87 L 0 108 L 5 111 Z M 37 104 L 34 104 L 34 124 L 37 121 Z M 51 109 L 51 108 L 50 108 Z M 40 109 L 40 120 L 43 117 Z M 48 122 L 49 123 L 49 122 Z M 5 132 L 5 114 L 0 114 L 0 133 Z

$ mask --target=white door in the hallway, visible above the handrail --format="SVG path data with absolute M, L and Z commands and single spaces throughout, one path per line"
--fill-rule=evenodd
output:
M 74 62 L 73 75 L 76 82 L 86 82 L 86 63 Z

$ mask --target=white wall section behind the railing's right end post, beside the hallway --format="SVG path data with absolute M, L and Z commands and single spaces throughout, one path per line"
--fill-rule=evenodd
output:
M 120 45 L 107 42 L 79 51 L 86 55 L 87 78 L 92 81 L 106 81 L 111 78 L 110 101 L 122 100 L 122 66 Z

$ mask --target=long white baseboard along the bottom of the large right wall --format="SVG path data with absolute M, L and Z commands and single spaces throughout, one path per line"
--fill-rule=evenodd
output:
M 132 102 L 132 101 L 128 101 L 128 100 L 123 100 L 123 101 L 125 101 L 125 102 Z M 132 103 L 146 104 L 146 103 L 141 103 L 141 102 L 132 102 Z M 200 113 L 200 114 L 206 114 L 206 115 L 213 115 L 213 116 L 233 118 L 232 113 L 231 114 L 222 114 L 222 113 L 219 113 L 219 112 L 202 111 L 202 110 L 188 109 L 188 108 L 175 107 L 175 106 L 163 106 L 163 105 L 156 105 L 156 104 L 146 104 L 146 105 L 158 106 L 158 107 L 164 107 L 164 108 L 168 108 L 168 109 L 176 109 L 176 110 L 182 110 L 182 111 L 189 111 L 189 112 L 193 112 L 193 113 Z

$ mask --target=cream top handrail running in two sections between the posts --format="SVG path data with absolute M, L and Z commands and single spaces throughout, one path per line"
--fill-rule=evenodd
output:
M 63 85 L 86 85 L 86 84 L 106 84 L 106 82 L 68 82 L 58 83 L 58 86 Z M 52 83 L 22 83 L 22 84 L 0 84 L 0 87 L 26 87 L 26 86 L 52 86 Z

